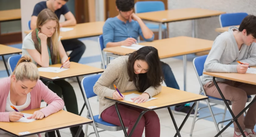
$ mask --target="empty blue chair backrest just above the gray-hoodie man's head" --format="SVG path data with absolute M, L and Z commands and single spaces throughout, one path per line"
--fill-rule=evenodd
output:
M 247 15 L 245 12 L 221 14 L 219 15 L 220 27 L 240 25 Z

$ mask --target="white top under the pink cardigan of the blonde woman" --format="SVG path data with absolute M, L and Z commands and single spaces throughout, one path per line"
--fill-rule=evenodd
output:
M 27 94 L 27 99 L 26 99 L 26 102 L 25 104 L 23 105 L 20 105 L 20 106 L 17 106 L 17 105 L 13 105 L 11 100 L 10 100 L 10 91 L 9 91 L 9 94 L 7 96 L 7 102 L 6 102 L 6 107 L 5 107 L 5 112 L 11 112 L 11 111 L 15 111 L 14 109 L 11 108 L 11 105 L 13 105 L 16 109 L 18 109 L 18 111 L 23 111 L 24 109 L 26 109 L 29 105 L 30 105 L 30 102 L 31 102 L 31 96 L 30 96 L 30 93 Z M 1 134 L 6 134 L 7 132 L 3 131 L 3 130 L 0 130 L 0 136 Z

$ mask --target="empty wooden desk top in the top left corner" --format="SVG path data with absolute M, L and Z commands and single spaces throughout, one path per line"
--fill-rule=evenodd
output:
M 20 9 L 10 9 L 10 10 L 0 11 L 0 22 L 16 20 L 20 18 L 21 18 Z

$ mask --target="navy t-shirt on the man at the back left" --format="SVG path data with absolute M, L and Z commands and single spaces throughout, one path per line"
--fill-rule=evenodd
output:
M 45 8 L 47 8 L 46 1 L 37 3 L 34 7 L 32 16 L 38 16 L 38 14 Z M 69 12 L 69 9 L 65 4 L 60 9 L 57 9 L 54 13 L 57 15 L 58 18 L 60 18 L 60 15 L 65 15 L 67 12 Z

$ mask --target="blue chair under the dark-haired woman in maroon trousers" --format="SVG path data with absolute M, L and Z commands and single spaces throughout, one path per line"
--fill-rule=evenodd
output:
M 87 77 L 84 77 L 84 79 L 82 79 L 82 82 L 81 82 L 82 89 L 83 89 L 83 94 L 85 96 L 85 101 L 86 101 L 87 109 L 88 109 L 87 110 L 87 118 L 93 120 L 93 123 L 91 123 L 89 125 L 93 126 L 94 131 L 95 131 L 95 132 L 90 133 L 89 135 L 95 133 L 97 137 L 99 136 L 97 128 L 103 129 L 99 132 L 123 130 L 121 126 L 117 126 L 117 125 L 105 122 L 101 118 L 100 119 L 98 118 L 99 115 L 93 115 L 92 114 L 91 106 L 90 106 L 90 103 L 89 103 L 88 99 L 92 98 L 94 96 L 97 96 L 93 92 L 93 86 L 98 81 L 100 76 L 101 76 L 101 74 L 87 76 Z M 84 133 L 85 137 L 89 136 L 89 135 L 87 135 L 87 129 L 88 129 L 88 124 L 85 126 L 85 133 Z

